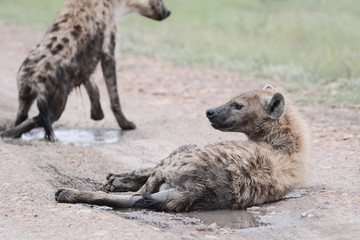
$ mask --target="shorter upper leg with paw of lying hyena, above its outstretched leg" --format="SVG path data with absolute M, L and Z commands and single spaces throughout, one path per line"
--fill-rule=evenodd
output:
M 145 168 L 120 174 L 109 174 L 104 190 L 107 192 L 136 192 L 148 180 L 153 168 Z

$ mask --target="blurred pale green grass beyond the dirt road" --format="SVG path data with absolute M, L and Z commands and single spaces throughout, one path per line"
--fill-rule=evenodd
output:
M 0 0 L 0 17 L 51 22 L 63 0 Z M 172 16 L 119 25 L 120 51 L 226 68 L 306 92 L 304 102 L 360 104 L 358 0 L 165 0 Z

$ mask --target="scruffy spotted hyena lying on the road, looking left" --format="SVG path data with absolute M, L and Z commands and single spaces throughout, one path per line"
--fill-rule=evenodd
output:
M 215 129 L 242 132 L 249 140 L 183 146 L 148 174 L 108 179 L 111 191 L 137 190 L 143 183 L 136 195 L 60 189 L 56 201 L 176 212 L 236 209 L 279 200 L 304 183 L 307 131 L 280 92 L 247 92 L 206 115 Z

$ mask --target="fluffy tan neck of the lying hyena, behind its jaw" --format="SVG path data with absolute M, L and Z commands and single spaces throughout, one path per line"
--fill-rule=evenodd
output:
M 280 119 L 260 125 L 263 127 L 248 136 L 251 141 L 265 142 L 273 149 L 289 155 L 307 152 L 308 133 L 305 124 L 290 106 Z

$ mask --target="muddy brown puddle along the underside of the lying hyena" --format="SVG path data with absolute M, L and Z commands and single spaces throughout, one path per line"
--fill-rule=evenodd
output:
M 183 213 L 184 216 L 200 219 L 206 225 L 216 223 L 220 227 L 245 229 L 269 225 L 261 221 L 261 212 L 245 210 L 216 210 Z

